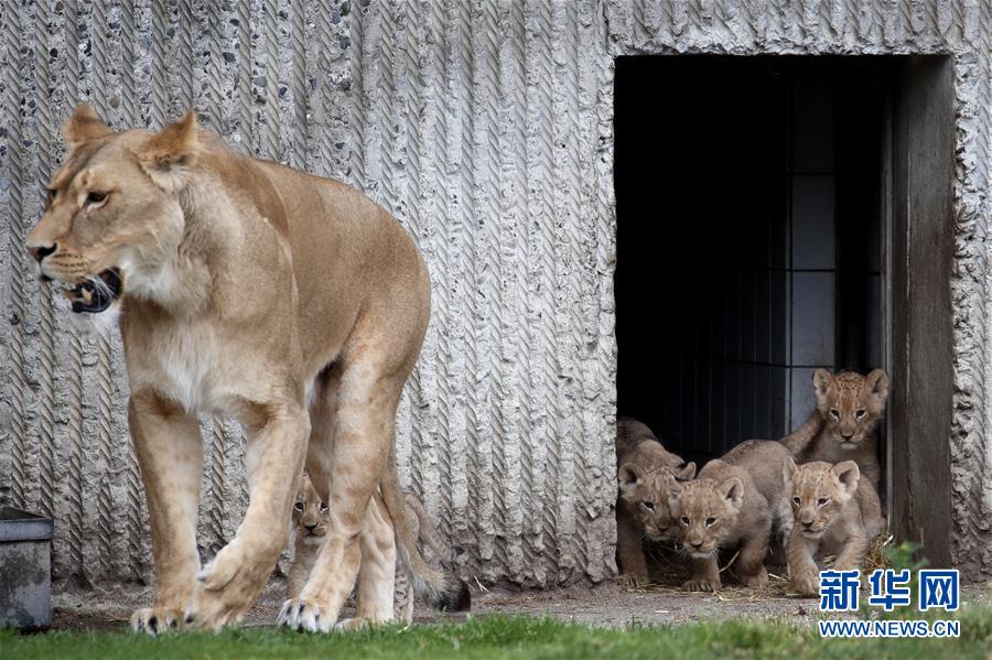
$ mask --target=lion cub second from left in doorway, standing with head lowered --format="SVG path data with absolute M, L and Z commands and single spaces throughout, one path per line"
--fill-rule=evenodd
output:
M 679 520 L 691 574 L 682 587 L 721 587 L 720 550 L 740 548 L 735 572 L 745 586 L 768 582 L 765 558 L 773 532 L 786 538 L 790 516 L 781 482 L 788 451 L 772 441 L 748 440 L 707 463 L 694 482 L 668 480 L 669 506 Z

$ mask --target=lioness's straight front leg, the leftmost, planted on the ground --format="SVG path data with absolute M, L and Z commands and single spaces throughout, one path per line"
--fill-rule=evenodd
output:
M 155 564 L 154 605 L 134 612 L 131 627 L 154 635 L 182 620 L 200 570 L 203 446 L 196 418 L 153 393 L 131 392 L 128 425 L 148 498 Z

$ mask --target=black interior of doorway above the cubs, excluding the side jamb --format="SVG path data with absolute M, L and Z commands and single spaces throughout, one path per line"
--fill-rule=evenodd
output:
M 882 364 L 887 94 L 850 61 L 617 61 L 619 410 L 672 450 L 780 437 L 813 370 Z

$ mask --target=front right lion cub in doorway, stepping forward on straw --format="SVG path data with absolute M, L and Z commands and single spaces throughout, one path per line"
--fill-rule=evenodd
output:
M 838 571 L 860 567 L 869 542 L 882 529 L 882 505 L 853 461 L 796 465 L 790 457 L 783 477 L 795 517 L 789 576 L 799 593 L 815 595 L 820 587 L 816 560 L 835 555 Z

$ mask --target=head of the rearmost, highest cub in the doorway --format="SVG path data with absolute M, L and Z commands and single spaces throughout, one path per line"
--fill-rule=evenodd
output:
M 882 369 L 867 376 L 855 371 L 831 376 L 826 369 L 817 369 L 813 388 L 826 429 L 841 447 L 853 450 L 872 432 L 885 410 L 888 376 Z

